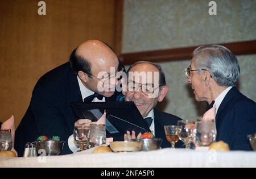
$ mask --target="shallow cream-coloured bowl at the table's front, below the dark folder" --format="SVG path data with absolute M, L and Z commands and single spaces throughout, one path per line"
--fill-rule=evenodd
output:
M 136 152 L 141 151 L 142 143 L 139 141 L 112 141 L 110 148 L 113 152 Z

